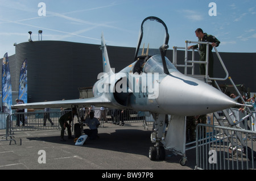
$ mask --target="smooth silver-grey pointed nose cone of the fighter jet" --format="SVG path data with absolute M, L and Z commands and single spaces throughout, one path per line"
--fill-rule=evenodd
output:
M 184 116 L 204 115 L 236 106 L 236 102 L 221 91 L 181 73 L 163 79 L 159 86 L 159 102 L 164 103 L 162 108 L 170 114 Z

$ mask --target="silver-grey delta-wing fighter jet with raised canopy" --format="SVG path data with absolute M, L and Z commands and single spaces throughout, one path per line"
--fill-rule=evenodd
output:
M 12 108 L 79 108 L 94 105 L 148 112 L 154 118 L 151 140 L 155 142 L 150 147 L 149 157 L 152 160 L 164 159 L 167 143 L 162 137 L 166 115 L 178 117 L 177 125 L 184 128 L 180 117 L 204 115 L 237 105 L 213 86 L 180 73 L 166 57 L 168 41 L 167 26 L 161 19 L 154 16 L 144 19 L 133 64 L 115 73 L 110 66 L 102 33 L 100 49 L 104 72 L 98 74 L 98 81 L 93 86 L 93 98 L 16 104 Z M 181 132 L 183 137 L 184 129 Z

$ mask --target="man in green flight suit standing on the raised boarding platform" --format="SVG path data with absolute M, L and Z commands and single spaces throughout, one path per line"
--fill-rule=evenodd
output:
M 201 28 L 197 28 L 195 31 L 196 36 L 198 37 L 199 41 L 204 41 L 204 42 L 210 42 L 212 43 L 212 46 L 209 45 L 209 57 L 208 57 L 208 75 L 209 77 L 213 78 L 213 54 L 212 54 L 212 49 L 213 47 L 218 47 L 220 44 L 220 41 L 216 39 L 215 36 L 212 35 L 207 35 L 207 33 L 204 33 Z M 191 48 L 199 48 L 200 50 L 200 61 L 206 61 L 206 52 L 207 52 L 207 45 L 206 44 L 197 44 L 197 45 L 192 45 L 189 46 L 188 49 Z M 205 70 L 206 64 L 200 64 L 200 74 L 205 75 L 206 70 Z

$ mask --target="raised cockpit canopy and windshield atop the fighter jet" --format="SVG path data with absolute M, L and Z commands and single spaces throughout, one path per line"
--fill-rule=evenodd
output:
M 166 49 L 162 50 L 161 54 L 160 47 L 163 47 L 163 45 L 168 47 L 168 41 L 168 30 L 161 19 L 154 16 L 144 19 L 141 24 L 141 32 L 135 53 L 134 61 L 137 62 L 134 65 L 133 73 L 162 74 L 164 73 L 164 68 L 168 69 L 169 73 L 177 71 L 170 60 L 165 57 Z

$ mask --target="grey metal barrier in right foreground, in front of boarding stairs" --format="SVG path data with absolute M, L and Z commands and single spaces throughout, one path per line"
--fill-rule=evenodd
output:
M 255 140 L 254 131 L 198 124 L 195 169 L 255 169 Z

